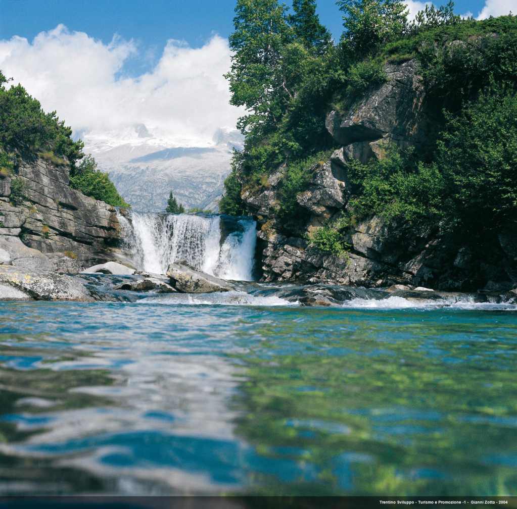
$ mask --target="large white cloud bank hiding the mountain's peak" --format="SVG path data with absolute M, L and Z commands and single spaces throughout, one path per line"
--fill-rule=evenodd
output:
M 227 40 L 216 35 L 198 49 L 169 40 L 150 72 L 120 78 L 137 52 L 132 41 L 115 36 L 103 44 L 58 25 L 32 43 L 0 41 L 0 69 L 75 131 L 143 123 L 172 140 L 202 143 L 219 127 L 234 128 L 242 111 L 229 105 L 222 76 L 230 68 Z

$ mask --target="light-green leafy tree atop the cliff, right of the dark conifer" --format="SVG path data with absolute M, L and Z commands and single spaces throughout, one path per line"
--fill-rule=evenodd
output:
M 337 4 L 345 14 L 344 48 L 356 57 L 402 37 L 407 30 L 408 11 L 400 0 L 338 0 Z

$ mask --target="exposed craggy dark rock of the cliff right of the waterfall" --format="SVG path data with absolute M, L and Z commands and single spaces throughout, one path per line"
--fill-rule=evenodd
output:
M 307 234 L 339 217 L 354 194 L 347 178 L 349 162 L 385 157 L 387 147 L 416 150 L 442 127 L 444 103 L 428 97 L 415 59 L 385 66 L 387 80 L 370 88 L 346 111 L 332 110 L 326 128 L 336 146 L 328 161 L 311 167 L 308 189 L 298 194 L 307 211 L 287 224 L 278 220 L 282 189 L 280 166 L 260 188 L 246 186 L 242 198 L 262 229 L 264 281 L 292 279 L 383 287 L 409 284 L 447 290 L 506 290 L 517 286 L 517 222 L 508 221 L 478 248 L 465 239 L 444 242 L 437 230 L 403 234 L 380 217 L 363 217 L 347 228 L 348 256 L 310 246 Z

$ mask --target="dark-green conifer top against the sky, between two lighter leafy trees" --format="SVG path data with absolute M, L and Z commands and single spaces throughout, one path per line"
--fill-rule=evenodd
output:
M 315 50 L 321 55 L 331 44 L 330 32 L 320 23 L 316 14 L 314 0 L 293 0 L 294 14 L 288 16 L 288 22 L 293 28 L 295 40 L 307 50 Z

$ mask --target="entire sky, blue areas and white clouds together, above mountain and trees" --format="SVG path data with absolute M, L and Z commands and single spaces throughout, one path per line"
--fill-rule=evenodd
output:
M 416 13 L 421 0 L 406 0 Z M 444 0 L 446 1 L 446 0 Z M 75 132 L 143 123 L 177 144 L 208 143 L 244 112 L 222 75 L 235 0 L 0 0 L 0 69 Z M 458 0 L 485 18 L 517 12 L 517 0 Z M 338 39 L 341 12 L 319 0 Z

